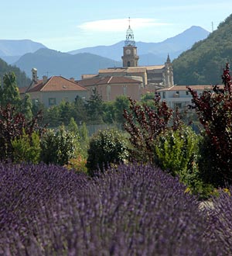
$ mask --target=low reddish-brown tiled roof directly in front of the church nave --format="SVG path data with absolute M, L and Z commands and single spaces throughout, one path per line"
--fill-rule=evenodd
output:
M 94 86 L 94 85 L 114 85 L 114 84 L 142 84 L 142 81 L 138 81 L 131 78 L 120 76 L 108 76 L 98 78 L 87 78 L 78 81 L 78 84 L 82 86 Z

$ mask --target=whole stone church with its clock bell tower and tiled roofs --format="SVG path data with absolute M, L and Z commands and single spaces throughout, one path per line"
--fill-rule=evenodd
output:
M 160 88 L 173 86 L 172 63 L 169 54 L 165 64 L 139 66 L 139 56 L 135 46 L 134 33 L 130 23 L 126 31 L 123 47 L 122 67 L 101 69 L 98 74 L 83 74 L 77 81 L 92 92 L 94 88 L 104 101 L 114 100 L 118 95 L 139 100 L 146 92 L 156 92 Z

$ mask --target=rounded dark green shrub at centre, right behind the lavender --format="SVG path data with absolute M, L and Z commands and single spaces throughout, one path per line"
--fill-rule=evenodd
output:
M 119 164 L 128 159 L 128 140 L 118 130 L 99 131 L 90 139 L 87 169 L 90 175 L 100 168 L 107 169 L 110 164 Z

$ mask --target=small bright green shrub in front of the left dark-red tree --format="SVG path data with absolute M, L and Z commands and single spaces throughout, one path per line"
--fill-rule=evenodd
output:
M 38 132 L 32 132 L 31 137 L 29 137 L 29 134 L 26 134 L 23 129 L 22 136 L 12 140 L 12 148 L 15 163 L 39 163 L 41 147 Z

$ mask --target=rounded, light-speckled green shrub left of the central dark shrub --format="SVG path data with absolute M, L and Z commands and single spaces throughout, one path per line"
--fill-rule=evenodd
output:
M 80 152 L 78 137 L 67 132 L 62 125 L 56 132 L 48 130 L 41 141 L 41 160 L 46 164 L 68 164 Z

